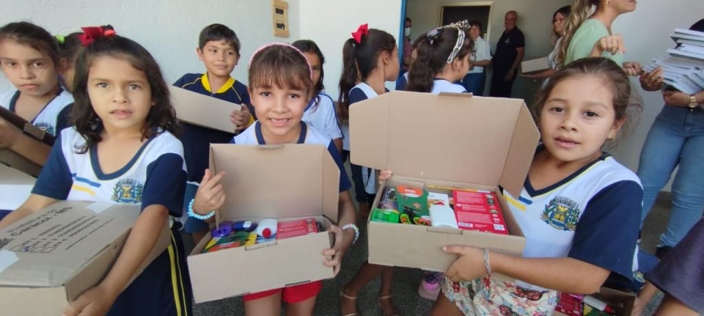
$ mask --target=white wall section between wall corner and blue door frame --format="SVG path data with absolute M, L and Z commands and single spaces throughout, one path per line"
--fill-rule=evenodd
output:
M 337 99 L 342 72 L 342 45 L 359 25 L 368 23 L 394 35 L 398 42 L 401 0 L 301 0 L 301 39 L 315 41 L 325 55 L 325 91 Z M 394 89 L 396 84 L 387 84 Z

